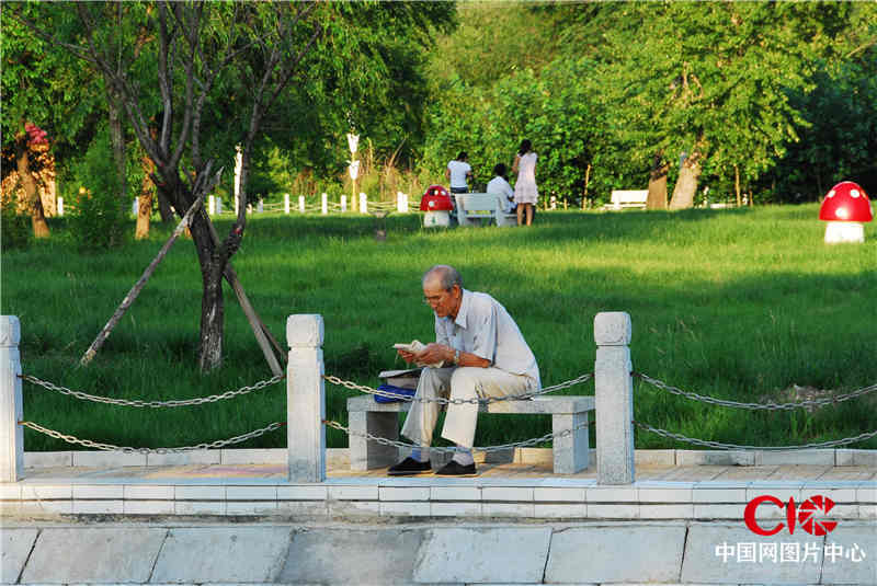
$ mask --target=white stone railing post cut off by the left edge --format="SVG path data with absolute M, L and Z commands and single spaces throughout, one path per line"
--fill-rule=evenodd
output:
M 20 341 L 19 319 L 0 315 L 0 482 L 18 482 L 24 474 Z

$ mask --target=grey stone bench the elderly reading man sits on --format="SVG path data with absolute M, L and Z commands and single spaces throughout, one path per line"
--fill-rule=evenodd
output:
M 378 403 L 372 395 L 348 399 L 350 423 L 350 466 L 352 470 L 385 468 L 399 460 L 398 449 L 369 441 L 354 434 L 371 434 L 387 439 L 399 438 L 399 413 L 408 412 L 409 402 Z M 542 395 L 523 401 L 482 403 L 479 413 L 551 415 L 551 433 L 558 434 L 582 425 L 571 435 L 554 439 L 554 471 L 574 474 L 589 467 L 588 414 L 594 411 L 593 397 Z M 527 438 L 521 438 L 527 439 Z

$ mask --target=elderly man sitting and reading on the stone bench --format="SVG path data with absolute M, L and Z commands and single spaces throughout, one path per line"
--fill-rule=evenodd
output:
M 517 324 L 496 299 L 463 288 L 459 273 L 447 265 L 430 268 L 422 279 L 423 300 L 435 312 L 435 342 L 419 354 L 399 349 L 408 363 L 441 363 L 424 368 L 415 398 L 476 400 L 521 394 L 539 389 L 539 367 Z M 438 418 L 440 404 L 414 401 L 402 435 L 419 448 L 390 467 L 390 475 L 430 472 L 429 446 Z M 476 473 L 471 448 L 478 403 L 451 403 L 442 437 L 457 445 L 453 459 L 436 474 Z

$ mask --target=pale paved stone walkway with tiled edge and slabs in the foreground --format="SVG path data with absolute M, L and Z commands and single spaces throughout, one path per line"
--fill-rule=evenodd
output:
M 633 485 L 602 486 L 535 451 L 470 479 L 352 473 L 334 452 L 326 482 L 289 483 L 284 453 L 29 468 L 0 484 L 0 583 L 877 586 L 872 456 L 668 466 L 679 455 L 643 452 Z M 760 495 L 831 498 L 817 522 L 838 525 L 758 536 L 743 512 Z M 786 513 L 766 503 L 756 522 Z

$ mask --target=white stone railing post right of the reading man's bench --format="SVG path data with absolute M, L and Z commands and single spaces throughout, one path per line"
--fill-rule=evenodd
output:
M 597 484 L 634 482 L 634 369 L 630 315 L 623 311 L 594 318 Z

